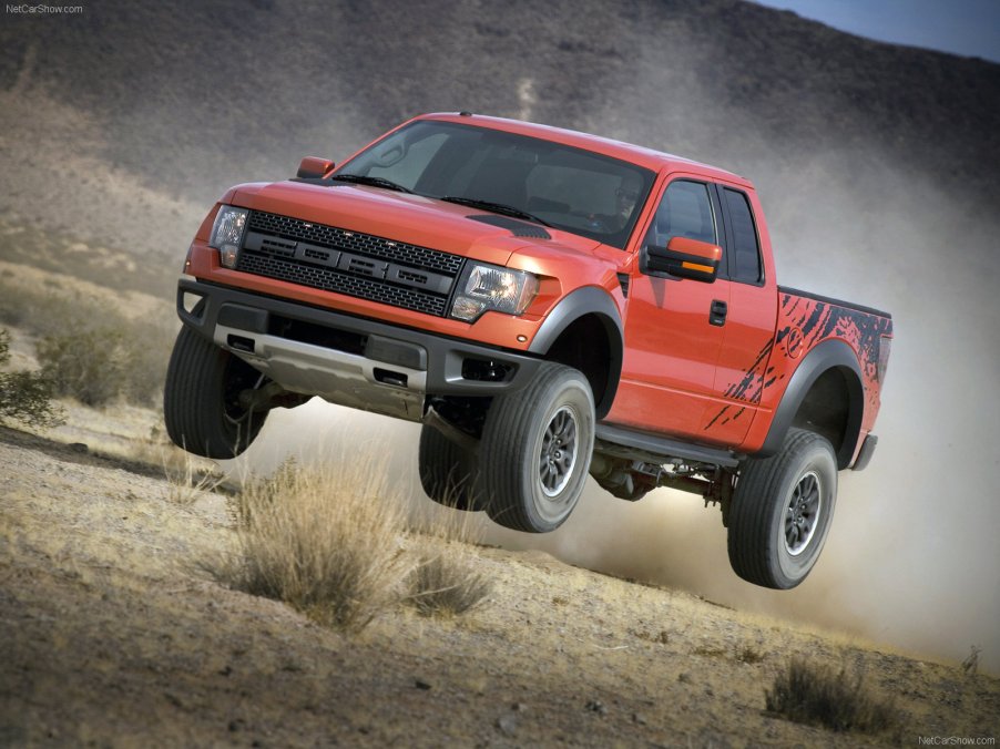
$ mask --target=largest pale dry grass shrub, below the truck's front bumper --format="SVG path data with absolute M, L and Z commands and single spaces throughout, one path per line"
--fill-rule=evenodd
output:
M 400 503 L 371 464 L 286 463 L 238 496 L 238 547 L 215 572 L 234 587 L 284 601 L 323 624 L 359 632 L 400 597 L 409 568 Z

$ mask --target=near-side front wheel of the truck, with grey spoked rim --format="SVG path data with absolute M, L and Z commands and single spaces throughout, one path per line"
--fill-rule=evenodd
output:
M 586 378 L 545 362 L 524 390 L 493 400 L 479 450 L 479 486 L 500 525 L 548 533 L 583 491 L 594 448 L 594 399 Z

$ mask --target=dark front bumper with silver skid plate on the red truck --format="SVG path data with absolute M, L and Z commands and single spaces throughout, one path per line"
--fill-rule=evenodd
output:
M 540 359 L 190 278 L 184 325 L 290 392 L 410 421 L 428 396 L 500 396 L 524 387 Z

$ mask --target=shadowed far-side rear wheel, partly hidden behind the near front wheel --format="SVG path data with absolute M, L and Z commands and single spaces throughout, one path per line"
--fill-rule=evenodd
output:
M 486 509 L 476 493 L 477 461 L 471 452 L 425 425 L 417 461 L 424 491 L 435 502 L 455 510 Z

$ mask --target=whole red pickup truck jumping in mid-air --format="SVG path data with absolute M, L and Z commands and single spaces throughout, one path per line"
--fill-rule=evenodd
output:
M 701 494 L 735 572 L 788 588 L 875 449 L 890 316 L 777 286 L 753 185 L 649 148 L 418 116 L 231 188 L 184 274 L 164 413 L 201 455 L 319 396 L 421 423 L 427 494 L 520 531 L 588 475 Z

